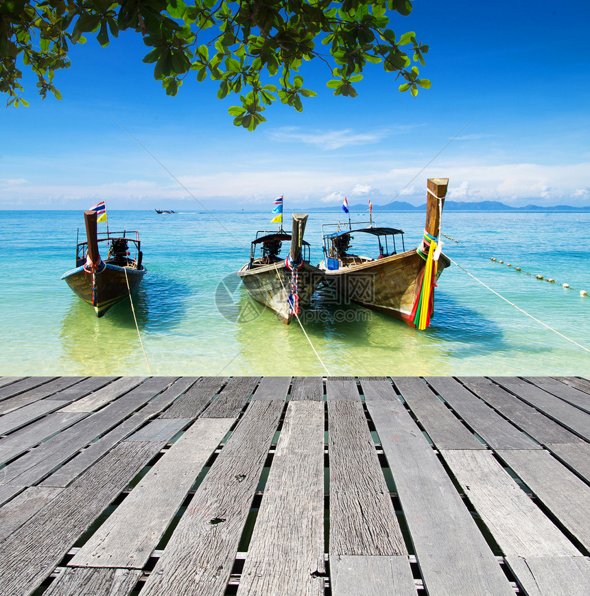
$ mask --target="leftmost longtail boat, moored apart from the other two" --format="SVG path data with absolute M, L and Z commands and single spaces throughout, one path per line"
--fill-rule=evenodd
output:
M 141 283 L 145 275 L 141 243 L 138 232 L 98 234 L 96 211 L 84 211 L 84 222 L 86 241 L 76 242 L 76 267 L 64 273 L 62 279 L 94 308 L 97 317 L 102 317 Z M 108 254 L 105 261 L 99 248 Z

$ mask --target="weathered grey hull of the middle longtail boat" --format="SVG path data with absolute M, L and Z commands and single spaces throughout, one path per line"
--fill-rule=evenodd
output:
M 262 265 L 248 269 L 244 265 L 237 272 L 248 294 L 274 312 L 285 324 L 291 322 L 288 298 L 291 293 L 291 271 L 285 266 L 285 261 Z M 317 267 L 304 262 L 298 272 L 299 305 L 309 304 L 311 295 L 314 294 L 322 281 L 322 272 Z

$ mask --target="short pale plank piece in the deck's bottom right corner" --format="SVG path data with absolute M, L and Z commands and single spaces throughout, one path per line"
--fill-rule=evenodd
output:
M 506 557 L 527 596 L 588 596 L 590 561 L 585 557 Z

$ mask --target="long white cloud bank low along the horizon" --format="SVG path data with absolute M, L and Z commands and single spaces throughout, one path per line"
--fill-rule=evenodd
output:
M 183 166 L 189 169 L 191 164 Z M 194 169 L 193 169 L 194 171 Z M 449 160 L 424 171 L 400 165 L 386 169 L 375 160 L 359 160 L 335 166 L 330 160 L 310 160 L 297 167 L 276 167 L 276 160 L 249 163 L 234 169 L 201 175 L 179 175 L 178 184 L 163 176 L 157 180 L 129 179 L 106 184 L 35 184 L 14 178 L 18 184 L 0 184 L 0 205 L 5 208 L 84 208 L 97 198 L 110 201 L 111 208 L 152 208 L 163 201 L 199 208 L 252 207 L 268 204 L 279 194 L 285 204 L 315 206 L 342 202 L 344 196 L 369 197 L 385 204 L 402 197 L 413 204 L 426 198 L 426 179 L 449 178 L 451 200 L 493 200 L 523 206 L 590 202 L 590 163 L 542 165 L 534 163 L 491 164 L 484 160 Z M 185 187 L 185 188 L 183 188 Z M 379 190 L 377 190 L 379 189 Z M 195 200 L 197 199 L 197 201 Z M 92 203 L 91 203 L 92 204 Z M 192 207 L 193 206 L 193 207 Z

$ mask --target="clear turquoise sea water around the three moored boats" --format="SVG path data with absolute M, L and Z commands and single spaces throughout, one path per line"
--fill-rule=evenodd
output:
M 342 309 L 320 288 L 304 333 L 259 308 L 235 275 L 269 212 L 109 211 L 111 231 L 140 232 L 147 275 L 133 305 L 145 357 L 128 300 L 97 319 L 60 280 L 74 266 L 82 211 L 0 212 L 0 374 L 590 374 L 590 296 L 580 296 L 590 292 L 590 213 L 444 213 L 443 233 L 458 241 L 447 240 L 445 253 L 510 304 L 453 264 L 427 331 Z M 344 217 L 309 215 L 312 263 L 322 258 L 321 224 Z M 424 213 L 376 219 L 403 229 L 406 248 L 421 240 Z

